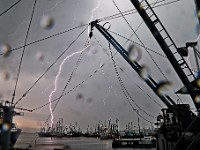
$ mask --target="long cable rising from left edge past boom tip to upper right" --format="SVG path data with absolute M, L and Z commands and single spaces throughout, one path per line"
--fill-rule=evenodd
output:
M 162 2 L 163 2 L 163 1 L 166 1 L 166 0 L 162 0 Z M 161 5 L 159 5 L 159 6 L 155 6 L 155 7 L 160 7 L 160 6 L 169 5 L 169 4 L 178 2 L 178 1 L 180 1 L 180 0 L 175 0 L 175 1 L 172 1 L 172 2 L 170 2 L 170 3 L 164 3 L 164 4 L 161 4 Z M 160 1 L 160 2 L 161 2 L 161 1 Z M 152 3 L 152 4 L 154 4 L 154 3 Z M 154 7 L 154 8 L 155 8 L 155 7 Z M 135 10 L 135 9 L 134 9 L 134 10 Z M 133 10 L 129 10 L 129 11 L 125 11 L 125 12 L 131 12 L 131 11 L 133 11 Z M 136 12 L 137 12 L 137 11 L 134 11 L 134 13 L 136 13 Z M 122 12 L 122 13 L 124 13 L 124 12 Z M 130 14 L 132 14 L 132 13 L 124 14 L 124 16 L 130 15 Z M 115 15 L 119 15 L 119 13 L 118 13 L 118 14 L 115 14 Z M 112 15 L 112 16 L 115 16 L 115 15 Z M 112 17 L 112 16 L 109 16 L 109 17 Z M 117 18 L 120 18 L 120 17 L 122 17 L 122 16 L 121 16 L 121 15 L 120 15 L 120 16 L 117 16 Z M 109 18 L 107 19 L 107 18 L 108 18 L 108 17 L 101 18 L 101 19 L 99 19 L 99 22 L 111 20 L 111 19 L 109 19 Z M 112 19 L 116 19 L 116 18 L 112 18 Z M 58 33 L 56 33 L 56 34 L 53 34 L 53 35 L 48 36 L 48 37 L 45 37 L 45 38 L 43 38 L 43 39 L 39 39 L 39 40 L 30 42 L 30 43 L 28 43 L 28 44 L 26 44 L 26 45 L 13 48 L 13 49 L 9 50 L 8 53 L 11 53 L 11 52 L 20 50 L 21 48 L 24 48 L 24 47 L 26 47 L 26 46 L 30 46 L 30 45 L 32 45 L 32 44 L 35 44 L 35 43 L 38 43 L 38 42 L 42 42 L 42 41 L 47 40 L 47 39 L 49 39 L 49 38 L 52 38 L 52 37 L 55 37 L 55 36 L 58 36 L 58 35 L 67 33 L 67 32 L 69 32 L 69 31 L 71 31 L 71 30 L 74 30 L 74 29 L 77 29 L 77 28 L 81 28 L 81 27 L 84 27 L 84 26 L 87 26 L 87 25 L 88 25 L 88 24 L 84 24 L 84 25 L 76 26 L 76 27 L 74 27 L 74 28 L 71 28 L 71 29 L 62 31 L 62 32 L 58 32 Z M 3 55 L 4 55 L 4 53 L 0 53 L 0 56 L 3 56 Z

